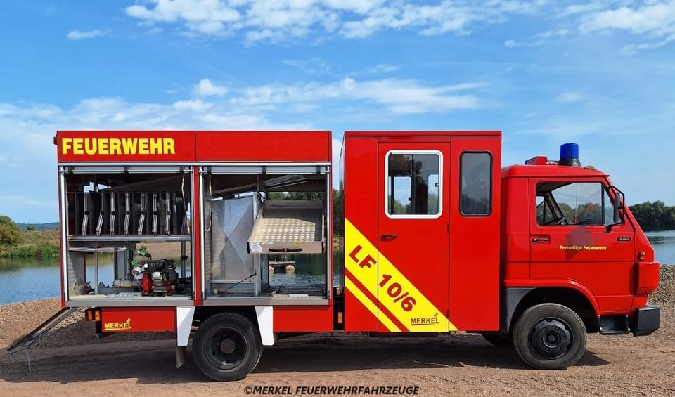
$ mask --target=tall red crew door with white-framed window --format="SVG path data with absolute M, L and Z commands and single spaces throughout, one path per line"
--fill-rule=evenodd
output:
M 450 143 L 378 144 L 378 332 L 447 332 Z

